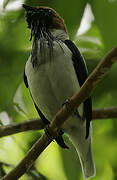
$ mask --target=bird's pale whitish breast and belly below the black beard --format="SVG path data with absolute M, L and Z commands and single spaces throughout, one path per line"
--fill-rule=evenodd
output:
M 48 120 L 51 120 L 65 100 L 80 88 L 73 67 L 72 53 L 65 44 L 61 43 L 61 47 L 54 43 L 51 61 L 47 59 L 45 64 L 33 68 L 29 58 L 25 67 L 33 100 Z M 78 110 L 82 115 L 82 105 Z

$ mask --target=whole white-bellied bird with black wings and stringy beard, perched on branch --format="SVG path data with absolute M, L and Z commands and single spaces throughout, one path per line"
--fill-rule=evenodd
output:
M 39 116 L 48 125 L 62 104 L 80 90 L 88 70 L 79 49 L 69 39 L 63 18 L 54 9 L 26 4 L 23 7 L 33 41 L 24 82 Z M 67 134 L 78 153 L 84 179 L 95 176 L 91 120 L 89 97 L 74 110 L 56 138 L 61 147 L 68 148 L 63 139 L 63 134 Z

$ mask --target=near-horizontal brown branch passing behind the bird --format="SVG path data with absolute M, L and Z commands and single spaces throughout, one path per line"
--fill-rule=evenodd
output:
M 92 120 L 96 119 L 112 119 L 117 118 L 117 107 L 108 107 L 108 108 L 101 108 L 101 109 L 94 109 Z M 45 124 L 41 119 L 33 119 L 28 120 L 21 123 L 0 126 L 0 137 L 31 131 L 31 130 L 41 130 L 45 127 Z

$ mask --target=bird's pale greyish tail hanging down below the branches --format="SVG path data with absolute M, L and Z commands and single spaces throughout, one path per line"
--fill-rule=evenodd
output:
M 80 132 L 81 131 L 81 132 Z M 82 166 L 85 180 L 95 176 L 95 165 L 91 149 L 91 135 L 85 139 L 84 129 L 78 129 L 68 133 L 70 140 L 75 146 Z

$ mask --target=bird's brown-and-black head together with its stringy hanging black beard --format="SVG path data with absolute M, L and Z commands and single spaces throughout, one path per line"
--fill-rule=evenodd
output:
M 38 63 L 38 48 L 40 52 L 40 63 L 45 60 L 45 42 L 48 44 L 50 51 L 50 59 L 53 57 L 53 42 L 56 41 L 59 44 L 59 41 L 63 40 L 67 36 L 66 26 L 63 19 L 56 13 L 55 10 L 49 7 L 31 7 L 28 5 L 23 5 L 26 10 L 26 20 L 28 23 L 28 28 L 31 29 L 30 40 L 33 40 L 32 46 L 32 56 L 31 61 L 33 67 Z M 59 35 L 56 32 L 59 31 Z M 57 31 L 58 32 L 58 31 Z M 64 36 L 63 36 L 64 34 Z M 39 46 L 38 46 L 39 40 Z

